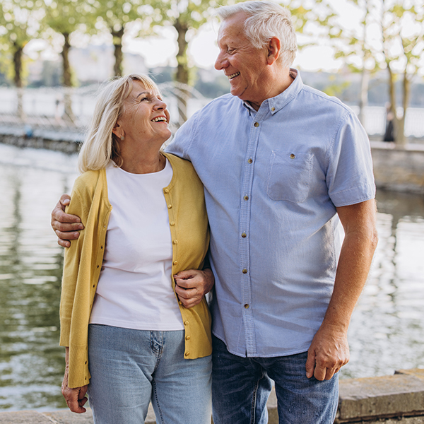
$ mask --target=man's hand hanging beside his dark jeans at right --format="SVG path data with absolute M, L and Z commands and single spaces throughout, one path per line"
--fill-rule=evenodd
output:
M 324 323 L 315 334 L 307 351 L 306 377 L 331 379 L 349 361 L 346 331 Z

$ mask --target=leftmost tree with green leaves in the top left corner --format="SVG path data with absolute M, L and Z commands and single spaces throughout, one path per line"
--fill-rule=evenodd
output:
M 18 116 L 23 119 L 23 49 L 42 30 L 41 0 L 2 0 L 0 3 L 0 42 L 11 59 L 13 82 L 18 90 Z

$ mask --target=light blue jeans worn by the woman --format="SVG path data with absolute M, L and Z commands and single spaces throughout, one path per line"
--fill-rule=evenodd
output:
M 88 398 L 95 424 L 211 423 L 211 356 L 184 359 L 184 330 L 90 324 Z

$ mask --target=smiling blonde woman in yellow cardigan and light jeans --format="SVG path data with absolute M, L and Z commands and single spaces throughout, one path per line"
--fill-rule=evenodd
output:
M 67 213 L 84 230 L 66 249 L 62 393 L 95 424 L 211 422 L 211 318 L 184 307 L 175 274 L 201 270 L 208 221 L 191 163 L 163 153 L 170 115 L 158 87 L 129 75 L 101 90 Z

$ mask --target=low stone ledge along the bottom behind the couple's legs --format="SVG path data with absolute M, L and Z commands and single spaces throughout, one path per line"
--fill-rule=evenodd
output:
M 274 390 L 269 397 L 268 413 L 269 424 L 278 424 Z M 399 370 L 384 377 L 340 380 L 335 424 L 343 423 L 424 424 L 424 370 Z M 89 408 L 83 414 L 68 410 L 3 412 L 0 424 L 93 424 L 93 416 Z M 151 406 L 146 424 L 155 424 Z

